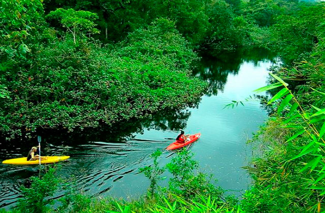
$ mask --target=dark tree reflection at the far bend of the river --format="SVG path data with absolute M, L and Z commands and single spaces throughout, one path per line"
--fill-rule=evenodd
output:
M 243 62 L 252 62 L 258 66 L 259 62 L 274 60 L 275 55 L 265 49 L 238 50 L 233 53 L 220 54 L 212 57 L 202 53 L 202 60 L 197 71 L 193 74 L 206 80 L 209 88 L 206 95 L 217 95 L 223 91 L 229 74 L 237 75 Z

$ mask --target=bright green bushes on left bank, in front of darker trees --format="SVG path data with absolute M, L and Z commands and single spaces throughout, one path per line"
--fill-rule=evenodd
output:
M 48 17 L 69 29 L 63 40 L 48 28 L 50 39 L 28 35 L 39 39 L 26 46 L 28 54 L 2 54 L 0 131 L 6 136 L 28 136 L 40 127 L 110 125 L 201 96 L 204 83 L 189 77 L 198 57 L 173 22 L 158 19 L 103 47 L 86 34 L 96 33 L 95 14 L 69 9 Z

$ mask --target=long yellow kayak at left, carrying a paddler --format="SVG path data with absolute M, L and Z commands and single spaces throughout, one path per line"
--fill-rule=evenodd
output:
M 55 163 L 55 162 L 67 160 L 68 158 L 70 158 L 70 156 L 42 156 L 42 158 L 45 159 L 41 160 L 41 164 L 49 164 L 49 163 Z M 14 159 L 5 160 L 2 163 L 16 164 L 16 165 L 31 165 L 31 164 L 39 164 L 39 160 L 27 161 L 27 158 L 14 158 Z

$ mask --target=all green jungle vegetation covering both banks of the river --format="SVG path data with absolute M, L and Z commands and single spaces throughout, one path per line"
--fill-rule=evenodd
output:
M 259 89 L 274 95 L 268 102 L 274 111 L 251 141 L 256 147 L 254 166 L 247 167 L 254 179 L 251 189 L 239 202 L 225 199 L 205 175 L 191 173 L 196 163 L 187 165 L 190 172 L 178 181 L 181 174 L 175 170 L 177 162 L 172 162 L 168 169 L 177 185 L 157 192 L 161 168 L 156 162 L 156 170 L 143 170 L 151 180 L 147 201 L 157 204 L 153 212 L 207 206 L 212 207 L 204 211 L 325 209 L 324 3 L 3 0 L 0 4 L 3 137 L 34 137 L 38 128 L 74 131 L 112 125 L 161 109 L 182 108 L 195 102 L 206 87 L 191 76 L 198 51 L 218 56 L 239 47 L 248 51 L 264 47 L 275 51 L 283 66 L 275 70 L 271 85 Z M 298 82 L 295 87 L 290 86 L 293 80 Z M 188 155 L 181 156 L 190 162 Z M 198 188 L 191 185 L 196 183 Z M 159 192 L 165 196 L 157 201 L 154 196 Z M 76 208 L 99 210 L 89 204 L 95 201 L 79 198 Z M 112 202 L 96 206 L 119 212 L 135 207 Z

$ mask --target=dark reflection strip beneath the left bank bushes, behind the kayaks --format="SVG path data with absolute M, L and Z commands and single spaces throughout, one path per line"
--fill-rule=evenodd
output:
M 198 103 L 196 103 L 198 104 Z M 100 128 L 86 128 L 83 131 L 75 130 L 68 133 L 67 130 L 38 130 L 42 136 L 42 143 L 51 146 L 60 145 L 78 145 L 89 141 L 102 142 L 124 142 L 125 139 L 132 139 L 134 133 L 144 133 L 145 129 L 155 130 L 179 130 L 185 129 L 190 112 L 187 110 L 161 111 L 144 119 L 131 119 L 121 122 L 113 127 L 102 126 Z M 163 138 L 162 138 L 163 139 Z M 37 139 L 25 141 L 12 141 L 2 144 L 4 150 L 10 150 L 12 147 L 19 147 L 20 153 L 25 154 L 31 146 L 37 143 Z M 25 144 L 28 144 L 27 146 Z M 30 147 L 29 147 L 30 146 Z M 44 150 L 44 149 L 43 149 Z M 0 151 L 0 154 L 2 152 Z

